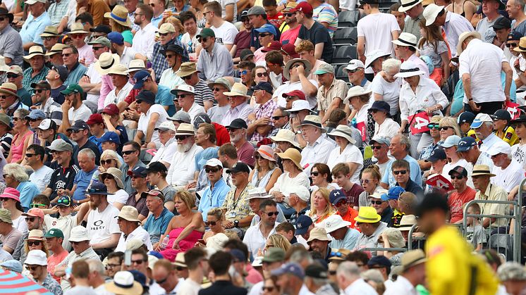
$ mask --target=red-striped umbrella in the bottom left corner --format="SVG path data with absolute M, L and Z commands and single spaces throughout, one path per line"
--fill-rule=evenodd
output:
M 11 270 L 1 270 L 0 272 L 0 294 L 26 294 L 27 292 L 37 294 L 53 295 L 50 291 L 32 281 L 25 275 Z

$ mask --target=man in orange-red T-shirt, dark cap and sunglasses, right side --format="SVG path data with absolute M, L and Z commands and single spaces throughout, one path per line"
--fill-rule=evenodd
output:
M 451 183 L 455 192 L 451 193 L 448 198 L 448 206 L 450 211 L 449 222 L 459 223 L 463 222 L 464 218 L 464 204 L 475 199 L 475 189 L 468 187 L 467 170 L 463 167 L 456 166 L 449 171 Z

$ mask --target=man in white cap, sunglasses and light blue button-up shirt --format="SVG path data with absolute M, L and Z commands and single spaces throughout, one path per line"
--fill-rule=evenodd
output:
M 197 211 L 202 213 L 203 220 L 207 220 L 210 208 L 219 208 L 223 205 L 226 194 L 230 187 L 223 179 L 223 163 L 216 158 L 211 158 L 204 165 L 204 172 L 207 173 L 209 185 L 204 189 L 201 195 L 201 201 Z

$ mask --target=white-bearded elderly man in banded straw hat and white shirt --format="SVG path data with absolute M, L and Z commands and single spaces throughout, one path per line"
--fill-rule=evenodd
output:
M 177 151 L 173 154 L 166 181 L 175 186 L 185 186 L 194 179 L 195 155 L 202 151 L 201 146 L 195 144 L 194 127 L 181 123 L 176 131 Z

